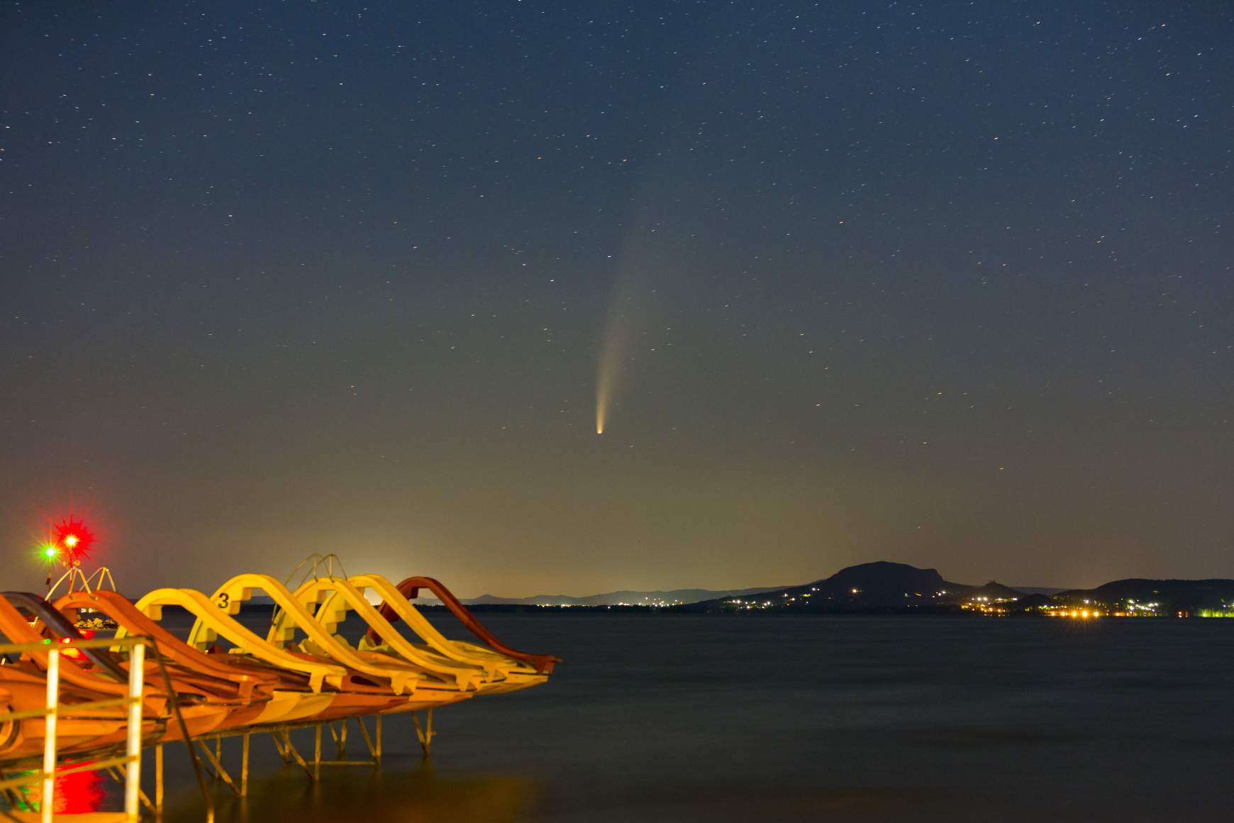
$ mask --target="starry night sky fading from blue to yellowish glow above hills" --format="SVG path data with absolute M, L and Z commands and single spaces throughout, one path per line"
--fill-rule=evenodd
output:
M 2 2 L 5 585 L 68 511 L 130 593 L 1234 577 L 1232 44 L 1215 0 Z

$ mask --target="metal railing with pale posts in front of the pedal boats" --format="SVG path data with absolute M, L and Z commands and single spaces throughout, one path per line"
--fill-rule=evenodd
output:
M 30 708 L 17 712 L 0 713 L 0 723 L 20 722 L 35 717 L 46 718 L 46 737 L 43 740 L 43 767 L 41 771 L 10 777 L 0 781 L 0 790 L 16 786 L 42 785 L 42 800 L 39 813 L 42 823 L 52 823 L 53 803 L 56 792 L 56 777 L 78 771 L 95 771 L 125 766 L 125 819 L 136 823 L 139 814 L 141 777 L 142 777 L 142 689 L 146 672 L 146 647 L 152 640 L 147 637 L 130 635 L 125 638 L 107 638 L 99 640 L 74 640 L 73 643 L 54 643 L 44 640 L 42 643 L 10 643 L 0 644 L 0 655 L 22 654 L 26 651 L 47 653 L 47 703 L 43 708 Z M 105 649 L 111 647 L 128 648 L 128 696 L 111 697 L 106 700 L 94 700 L 80 703 L 72 703 L 67 708 L 60 706 L 60 655 L 69 649 Z M 155 649 L 157 654 L 157 649 Z M 162 656 L 159 655 L 162 664 Z M 127 706 L 125 754 L 121 756 L 95 760 L 88 764 L 56 770 L 56 761 L 59 756 L 56 745 L 57 721 L 60 713 L 111 708 L 114 706 Z

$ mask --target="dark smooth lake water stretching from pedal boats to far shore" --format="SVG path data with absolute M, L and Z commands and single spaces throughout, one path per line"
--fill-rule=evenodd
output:
M 251 796 L 220 785 L 217 819 L 1176 821 L 1229 809 L 1234 621 L 482 619 L 565 661 L 547 686 L 439 709 L 428 761 L 406 717 L 386 721 L 380 770 L 323 767 L 316 785 L 254 738 Z M 167 753 L 165 819 L 202 819 L 184 749 Z

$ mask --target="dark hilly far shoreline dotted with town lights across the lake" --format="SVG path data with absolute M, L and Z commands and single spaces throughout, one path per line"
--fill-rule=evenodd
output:
M 1128 579 L 1096 589 L 1014 589 L 945 580 L 935 569 L 880 560 L 813 582 L 708 591 L 621 591 L 589 597 L 539 596 L 468 601 L 478 611 L 682 612 L 701 614 L 977 614 L 1060 619 L 1234 617 L 1234 580 Z M 431 606 L 431 601 L 424 603 Z

